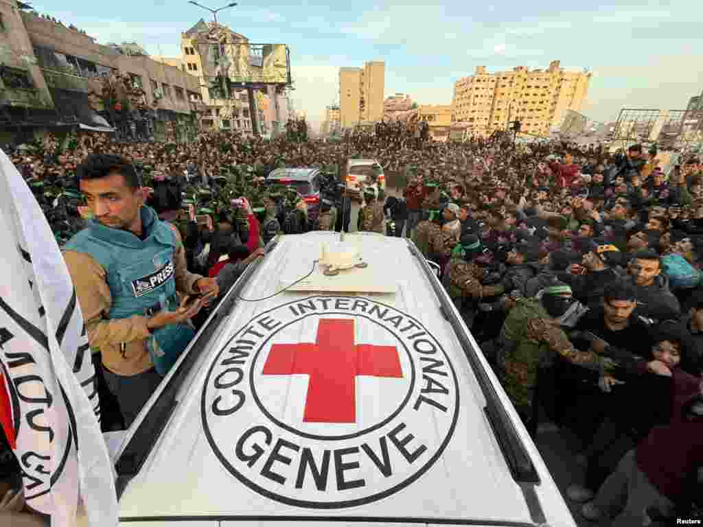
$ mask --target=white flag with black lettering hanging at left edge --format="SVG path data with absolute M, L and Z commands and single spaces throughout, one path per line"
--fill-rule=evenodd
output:
M 37 200 L 1 150 L 0 247 L 0 424 L 20 462 L 27 505 L 51 515 L 52 526 L 69 527 L 80 500 L 89 526 L 117 526 L 75 288 Z

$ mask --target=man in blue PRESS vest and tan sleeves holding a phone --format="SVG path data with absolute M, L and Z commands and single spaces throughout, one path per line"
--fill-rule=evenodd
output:
M 195 335 L 191 318 L 219 294 L 217 281 L 189 273 L 178 230 L 144 206 L 134 166 L 91 155 L 78 168 L 93 214 L 66 245 L 89 341 L 101 352 L 108 389 L 131 422 Z M 181 304 L 181 295 L 199 295 Z

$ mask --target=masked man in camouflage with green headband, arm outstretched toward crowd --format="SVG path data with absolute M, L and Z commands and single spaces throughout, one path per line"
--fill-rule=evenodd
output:
M 498 339 L 498 377 L 533 437 L 538 419 L 538 376 L 546 374 L 545 368 L 553 365 L 557 356 L 593 370 L 614 367 L 610 358 L 575 349 L 562 331 L 560 320 L 573 308 L 571 287 L 555 281 L 543 289 L 541 299 L 517 299 Z

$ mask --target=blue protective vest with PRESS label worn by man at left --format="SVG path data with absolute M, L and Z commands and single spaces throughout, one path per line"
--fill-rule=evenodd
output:
M 175 311 L 176 235 L 168 223 L 160 221 L 149 207 L 141 207 L 146 239 L 127 230 L 105 227 L 97 220 L 66 244 L 69 251 L 90 254 L 105 269 L 112 306 L 109 318 L 151 316 L 161 309 Z M 165 375 L 195 332 L 187 324 L 167 325 L 154 331 L 147 345 L 159 373 Z M 155 352 L 154 340 L 163 351 Z

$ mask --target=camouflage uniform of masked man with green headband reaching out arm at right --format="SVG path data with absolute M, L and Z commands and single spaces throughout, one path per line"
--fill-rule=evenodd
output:
M 538 369 L 552 365 L 557 355 L 591 369 L 612 366 L 610 359 L 576 350 L 536 299 L 517 299 L 505 319 L 500 341 L 499 377 L 510 401 L 523 410 L 531 410 L 534 404 Z

